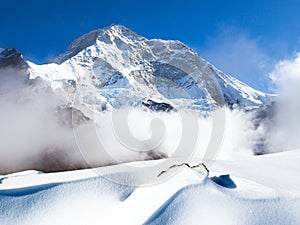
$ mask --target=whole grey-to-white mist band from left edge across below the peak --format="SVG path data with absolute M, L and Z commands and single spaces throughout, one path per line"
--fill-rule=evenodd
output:
M 15 71 L 2 70 L 0 75 L 0 174 L 74 170 L 166 157 L 248 158 L 253 156 L 259 136 L 251 114 L 229 109 L 213 112 L 222 115 L 222 120 L 215 120 L 195 112 L 121 108 L 92 112 L 78 123 L 74 122 L 76 107 L 47 83 Z M 214 129 L 220 130 L 218 135 Z M 210 142 L 219 144 L 208 149 Z

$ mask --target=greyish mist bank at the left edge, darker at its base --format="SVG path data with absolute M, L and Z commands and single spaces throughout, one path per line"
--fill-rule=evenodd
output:
M 38 80 L 15 70 L 0 71 L 0 173 L 58 170 L 69 158 L 72 133 L 61 125 L 61 100 Z

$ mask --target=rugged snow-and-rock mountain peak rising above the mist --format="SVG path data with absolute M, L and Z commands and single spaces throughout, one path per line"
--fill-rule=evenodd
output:
M 76 98 L 100 110 L 148 100 L 200 111 L 271 102 L 181 42 L 148 40 L 119 25 L 83 35 L 50 64 L 29 65 L 32 78 L 42 77 L 55 89 L 73 80 Z

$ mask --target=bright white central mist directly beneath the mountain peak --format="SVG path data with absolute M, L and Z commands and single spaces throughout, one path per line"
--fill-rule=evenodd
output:
M 261 134 L 251 122 L 252 114 L 230 109 L 218 111 L 213 114 L 223 114 L 224 129 L 213 116 L 204 118 L 194 112 L 121 108 L 96 113 L 93 125 L 79 126 L 74 132 L 82 157 L 92 167 L 166 157 L 197 157 L 200 161 L 207 155 L 209 160 L 253 157 L 253 147 Z M 119 114 L 125 115 L 123 122 L 116 119 Z M 220 135 L 214 136 L 214 127 L 221 129 Z M 209 149 L 211 141 L 220 144 Z

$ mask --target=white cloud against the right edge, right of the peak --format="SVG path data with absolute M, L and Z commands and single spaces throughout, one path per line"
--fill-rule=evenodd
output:
M 270 78 L 278 89 L 275 118 L 268 136 L 270 151 L 300 148 L 300 54 L 277 63 Z

